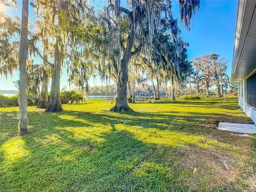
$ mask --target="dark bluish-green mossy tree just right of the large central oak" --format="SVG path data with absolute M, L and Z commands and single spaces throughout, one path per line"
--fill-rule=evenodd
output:
M 186 49 L 188 44 L 183 42 L 179 36 L 180 30 L 176 20 L 171 17 L 169 20 L 164 18 L 161 24 L 154 36 L 151 60 L 147 60 L 144 55 L 141 55 L 142 67 L 145 67 L 143 70 L 147 71 L 151 78 L 156 100 L 159 99 L 159 85 L 161 84 L 164 85 L 167 97 L 168 82 L 170 82 L 171 86 L 172 99 L 175 99 L 177 90 L 186 79 L 185 73 L 189 65 Z M 176 43 L 174 43 L 174 38 Z M 138 60 L 138 57 L 135 60 Z M 157 86 L 155 86 L 154 79 Z

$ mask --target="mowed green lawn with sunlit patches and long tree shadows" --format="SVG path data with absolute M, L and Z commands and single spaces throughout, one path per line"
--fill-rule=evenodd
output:
M 255 135 L 215 126 L 252 123 L 236 102 L 111 102 L 28 107 L 22 137 L 18 107 L 0 108 L 0 191 L 256 190 Z

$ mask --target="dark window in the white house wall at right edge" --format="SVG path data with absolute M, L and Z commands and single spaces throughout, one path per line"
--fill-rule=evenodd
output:
M 247 103 L 256 108 L 256 74 L 247 79 Z

